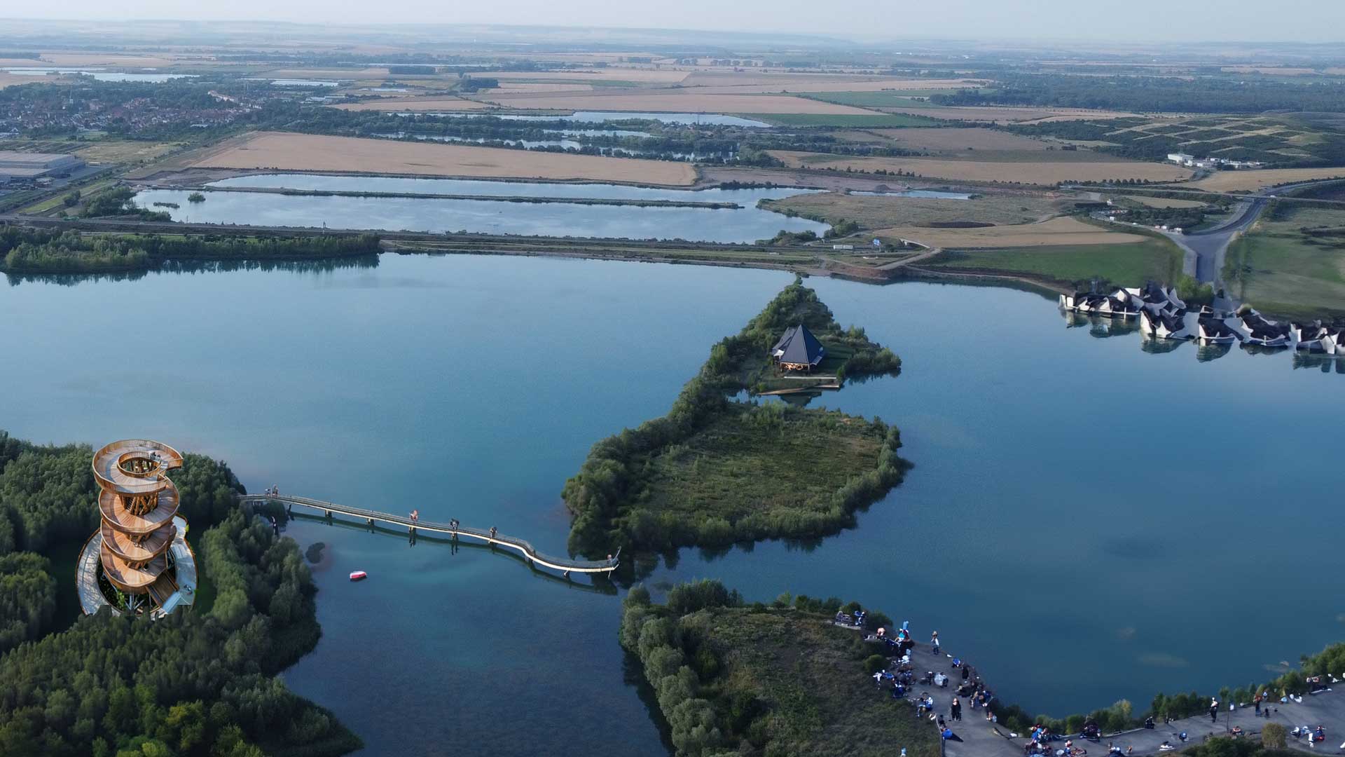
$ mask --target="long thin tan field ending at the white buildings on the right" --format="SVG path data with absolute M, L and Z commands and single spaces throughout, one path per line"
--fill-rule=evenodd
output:
M 1180 166 L 1141 163 L 1138 160 L 951 160 L 939 158 L 851 158 L 822 152 L 795 152 L 772 150 L 791 168 L 834 168 L 837 171 L 888 171 L 915 174 L 923 178 L 955 179 L 964 182 L 1015 182 L 1053 186 L 1060 182 L 1091 182 L 1103 179 L 1145 179 L 1173 182 L 1190 176 Z M 1345 170 L 1342 170 L 1345 171 Z

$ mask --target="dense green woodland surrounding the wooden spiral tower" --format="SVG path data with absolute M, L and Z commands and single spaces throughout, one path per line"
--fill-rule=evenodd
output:
M 172 477 L 202 568 L 195 606 L 159 621 L 79 613 L 66 570 L 98 527 L 91 454 L 0 431 L 0 754 L 359 749 L 276 678 L 317 643 L 316 587 L 299 546 L 238 508 L 242 486 L 219 461 L 188 454 Z

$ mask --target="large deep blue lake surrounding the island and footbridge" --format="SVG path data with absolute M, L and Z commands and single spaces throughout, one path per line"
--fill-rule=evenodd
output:
M 418 508 L 560 552 L 558 493 L 589 446 L 663 414 L 710 345 L 790 280 L 395 255 L 323 272 L 22 280 L 0 318 L 43 327 L 0 334 L 3 354 L 23 356 L 0 372 L 0 418 L 38 442 L 148 435 L 229 461 L 252 490 Z M 650 578 L 655 594 L 717 577 L 749 599 L 857 598 L 917 636 L 937 629 L 1001 696 L 1056 714 L 1264 679 L 1345 636 L 1329 412 L 1345 366 L 1146 352 L 1135 333 L 1072 327 L 1052 300 L 1006 288 L 810 286 L 904 360 L 900 377 L 823 404 L 898 424 L 915 467 L 855 529 L 811 548 L 682 551 Z M 126 302 L 172 360 L 87 358 L 106 345 L 109 303 Z M 145 387 L 148 416 L 126 401 Z M 328 544 L 328 559 L 315 570 L 323 638 L 285 679 L 367 754 L 443 753 L 496 722 L 510 727 L 492 754 L 662 750 L 625 683 L 619 595 L 487 550 L 316 521 L 288 535 Z M 351 570 L 370 579 L 352 585 Z

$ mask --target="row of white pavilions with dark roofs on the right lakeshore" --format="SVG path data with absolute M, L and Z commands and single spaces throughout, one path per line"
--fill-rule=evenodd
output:
M 1177 291 L 1154 284 L 1119 288 L 1111 294 L 1060 295 L 1060 307 L 1085 315 L 1138 318 L 1139 330 L 1155 339 L 1196 339 L 1205 345 L 1291 348 L 1317 354 L 1345 356 L 1345 329 L 1271 321 L 1252 307 L 1236 312 L 1201 306 L 1192 310 Z

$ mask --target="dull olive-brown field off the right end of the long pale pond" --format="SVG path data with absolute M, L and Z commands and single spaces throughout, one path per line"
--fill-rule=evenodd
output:
M 974 199 L 932 199 L 820 193 L 765 199 L 760 207 L 776 213 L 794 213 L 831 225 L 845 220 L 857 222 L 862 229 L 889 229 L 958 222 L 1032 224 L 1063 211 L 1065 203 L 1067 201 L 1061 199 L 1017 194 L 989 194 Z

